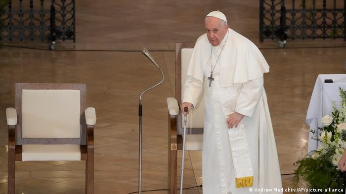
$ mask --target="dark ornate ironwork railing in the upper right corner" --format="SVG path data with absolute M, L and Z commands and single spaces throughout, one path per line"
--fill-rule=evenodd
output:
M 259 40 L 344 38 L 346 0 L 260 0 Z

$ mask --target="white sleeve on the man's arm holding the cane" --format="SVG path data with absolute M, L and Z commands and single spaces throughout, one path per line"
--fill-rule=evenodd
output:
M 188 76 L 184 87 L 184 96 L 182 102 L 190 102 L 194 107 L 198 102 L 203 91 L 203 83 L 191 76 Z

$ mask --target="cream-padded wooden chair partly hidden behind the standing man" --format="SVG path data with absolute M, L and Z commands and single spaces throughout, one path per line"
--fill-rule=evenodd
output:
M 190 63 L 194 43 L 175 43 L 175 98 L 167 98 L 168 120 L 168 189 L 176 194 L 177 150 L 182 149 L 183 116 L 179 104 L 184 94 L 186 72 Z M 203 96 L 203 95 L 202 95 Z M 187 117 L 185 150 L 202 150 L 204 126 L 204 98 L 196 104 Z

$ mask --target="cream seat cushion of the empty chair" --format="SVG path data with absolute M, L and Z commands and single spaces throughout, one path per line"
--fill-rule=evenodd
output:
M 22 161 L 81 161 L 81 146 L 22 145 Z

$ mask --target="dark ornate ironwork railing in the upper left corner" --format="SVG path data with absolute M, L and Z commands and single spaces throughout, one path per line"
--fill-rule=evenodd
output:
M 46 0 L 48 1 L 48 0 Z M 9 0 L 0 18 L 4 40 L 76 41 L 75 0 Z M 28 7 L 28 9 L 25 9 Z

